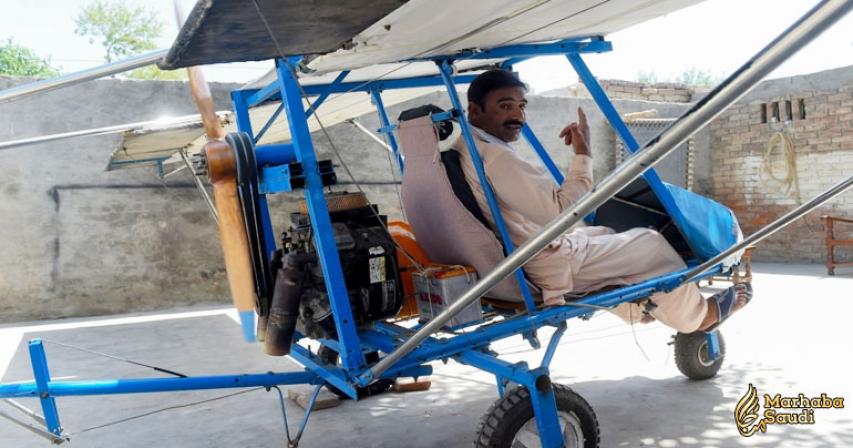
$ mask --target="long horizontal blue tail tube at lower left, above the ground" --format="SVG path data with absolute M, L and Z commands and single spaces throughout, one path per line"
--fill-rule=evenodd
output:
M 245 375 L 199 376 L 188 378 L 139 378 L 90 381 L 51 381 L 47 390 L 51 396 L 115 395 L 181 390 L 230 389 L 241 387 L 275 386 L 279 384 L 316 384 L 319 377 L 308 371 L 258 373 Z M 0 397 L 38 397 L 34 382 L 4 384 Z

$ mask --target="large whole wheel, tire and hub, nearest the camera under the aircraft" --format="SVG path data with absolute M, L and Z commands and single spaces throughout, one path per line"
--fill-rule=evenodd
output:
M 597 448 L 598 419 L 592 406 L 566 386 L 554 384 L 557 415 L 563 446 Z M 483 416 L 477 431 L 476 448 L 541 447 L 530 392 L 518 387 L 504 395 Z

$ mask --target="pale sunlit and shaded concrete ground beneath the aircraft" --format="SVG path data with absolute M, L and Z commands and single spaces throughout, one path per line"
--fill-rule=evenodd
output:
M 593 406 L 602 446 L 853 446 L 853 402 L 848 404 L 853 400 L 853 361 L 845 330 L 853 315 L 853 271 L 827 277 L 816 265 L 756 264 L 754 269 L 756 298 L 723 327 L 725 365 L 712 380 L 689 381 L 678 372 L 667 345 L 672 332 L 659 324 L 632 331 L 603 313 L 588 322 L 570 321 L 552 364 L 553 379 L 573 387 Z M 31 378 L 26 341 L 33 337 L 46 340 L 55 379 L 163 376 L 57 343 L 189 375 L 296 368 L 288 359 L 267 357 L 259 347 L 243 343 L 229 314 L 208 307 L 0 327 L 0 374 L 3 382 Z M 543 330 L 540 337 L 546 334 Z M 521 338 L 496 349 L 506 359 L 532 364 L 542 356 Z M 388 393 L 317 411 L 302 446 L 471 446 L 479 419 L 496 399 L 493 378 L 454 362 L 436 363 L 435 370 L 427 392 Z M 733 411 L 749 383 L 759 397 L 826 393 L 844 397 L 846 407 L 817 409 L 814 425 L 771 425 L 765 434 L 744 438 Z M 233 392 L 63 397 L 58 406 L 70 446 L 284 446 L 274 392 L 255 390 L 182 406 Z M 38 408 L 35 400 L 21 402 Z M 0 408 L 16 414 L 5 404 Z M 154 412 L 163 408 L 169 409 Z M 287 401 L 287 410 L 294 426 L 301 408 Z M 0 447 L 47 445 L 0 419 Z

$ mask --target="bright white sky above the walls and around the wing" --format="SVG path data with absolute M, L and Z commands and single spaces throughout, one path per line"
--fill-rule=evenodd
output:
M 0 39 L 50 57 L 62 72 L 102 63 L 101 47 L 74 34 L 74 17 L 91 0 L 0 0 Z M 164 23 L 160 48 L 177 33 L 172 0 L 131 1 L 157 10 Z M 602 79 L 636 79 L 654 72 L 666 79 L 696 68 L 722 77 L 755 54 L 810 9 L 814 0 L 707 0 L 607 36 L 614 51 L 585 57 Z M 180 0 L 189 11 L 193 0 Z M 770 77 L 813 73 L 853 65 L 853 14 L 819 36 Z M 205 69 L 211 81 L 244 82 L 261 76 L 268 62 L 221 64 Z M 573 84 L 577 77 L 565 58 L 537 58 L 516 66 L 533 92 Z

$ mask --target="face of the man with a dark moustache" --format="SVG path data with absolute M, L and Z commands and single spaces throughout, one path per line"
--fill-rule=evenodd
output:
M 502 87 L 492 90 L 483 99 L 483 107 L 468 105 L 471 124 L 505 141 L 518 140 L 524 125 L 527 100 L 522 87 Z

